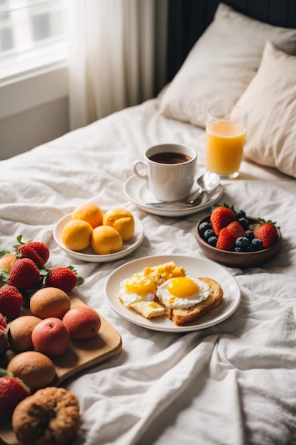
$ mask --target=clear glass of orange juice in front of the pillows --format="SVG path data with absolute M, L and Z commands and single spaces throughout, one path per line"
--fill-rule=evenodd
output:
M 213 121 L 207 126 L 207 170 L 237 176 L 243 159 L 246 127 L 241 122 Z

